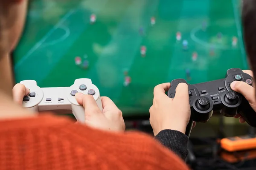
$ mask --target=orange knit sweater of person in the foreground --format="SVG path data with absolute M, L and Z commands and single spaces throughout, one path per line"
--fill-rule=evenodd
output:
M 41 114 L 0 121 L 0 170 L 188 170 L 150 136 Z

